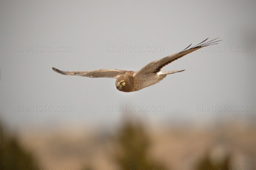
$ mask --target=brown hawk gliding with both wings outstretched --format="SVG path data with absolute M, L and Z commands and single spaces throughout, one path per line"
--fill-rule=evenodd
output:
M 221 41 L 221 40 L 217 40 L 218 38 L 211 41 L 207 41 L 208 39 L 209 38 L 199 43 L 198 45 L 195 45 L 194 47 L 189 48 L 192 45 L 190 44 L 187 48 L 185 48 L 181 52 L 150 62 L 139 71 L 110 70 L 110 69 L 101 69 L 101 70 L 95 70 L 95 71 L 60 71 L 57 68 L 52 68 L 52 70 L 56 71 L 59 74 L 71 75 L 71 76 L 82 76 L 82 77 L 91 77 L 91 78 L 99 78 L 99 77 L 116 78 L 117 90 L 123 91 L 123 92 L 139 91 L 143 88 L 146 88 L 150 85 L 154 85 L 160 82 L 168 74 L 174 74 L 174 73 L 184 71 L 184 70 L 180 70 L 180 71 L 161 72 L 161 69 L 164 66 L 170 64 L 176 59 L 179 59 L 185 56 L 186 54 L 192 53 L 193 51 L 196 51 L 200 48 L 203 48 L 209 45 L 218 44 L 217 42 Z

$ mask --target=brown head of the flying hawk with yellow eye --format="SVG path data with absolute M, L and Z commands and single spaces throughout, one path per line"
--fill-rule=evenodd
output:
M 116 79 L 116 88 L 119 91 L 133 91 L 134 79 L 130 75 L 122 75 Z

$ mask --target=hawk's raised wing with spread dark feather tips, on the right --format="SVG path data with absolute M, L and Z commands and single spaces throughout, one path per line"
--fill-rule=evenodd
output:
M 216 39 L 218 39 L 218 38 L 216 38 Z M 208 41 L 208 42 L 205 42 L 206 40 L 208 40 L 208 38 L 207 38 L 206 40 L 204 40 L 203 42 L 199 43 L 198 45 L 195 45 L 192 48 L 189 48 L 192 45 L 192 44 L 190 44 L 187 47 L 189 49 L 185 48 L 183 51 L 181 51 L 179 53 L 172 54 L 172 55 L 164 57 L 162 59 L 158 59 L 158 60 L 155 60 L 153 62 L 150 62 L 149 64 L 145 65 L 142 69 L 140 69 L 140 71 L 135 72 L 134 76 L 138 76 L 138 75 L 141 75 L 141 74 L 148 74 L 148 73 L 158 73 L 158 72 L 160 72 L 160 70 L 164 66 L 170 64 L 171 62 L 175 61 L 176 59 L 179 59 L 179 58 L 185 56 L 186 54 L 189 54 L 189 53 L 191 53 L 193 51 L 196 51 L 196 50 L 198 50 L 200 48 L 203 48 L 203 47 L 206 47 L 208 45 L 218 44 L 216 42 L 221 41 L 221 40 L 217 41 L 216 39 Z

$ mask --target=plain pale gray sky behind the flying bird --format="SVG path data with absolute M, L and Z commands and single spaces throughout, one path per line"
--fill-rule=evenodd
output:
M 21 129 L 101 127 L 129 114 L 114 108 L 123 105 L 149 109 L 135 114 L 159 124 L 215 117 L 205 106 L 250 119 L 256 111 L 255 8 L 254 0 L 1 1 L 1 119 Z M 51 69 L 138 71 L 207 37 L 222 41 L 163 69 L 186 71 L 133 93 L 117 91 L 115 79 L 63 76 Z M 33 105 L 48 109 L 23 109 Z M 247 105 L 254 111 L 244 111 Z M 69 106 L 74 111 L 64 111 Z M 155 111 L 158 106 L 163 110 Z

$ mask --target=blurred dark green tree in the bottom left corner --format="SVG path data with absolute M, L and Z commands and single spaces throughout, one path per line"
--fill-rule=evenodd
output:
M 20 146 L 17 137 L 10 136 L 0 126 L 0 169 L 1 170 L 38 170 L 37 162 L 31 153 Z

